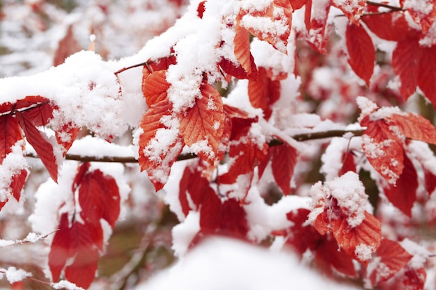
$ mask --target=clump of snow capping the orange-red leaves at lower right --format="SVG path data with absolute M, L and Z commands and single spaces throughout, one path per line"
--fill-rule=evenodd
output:
M 341 213 L 347 220 L 350 227 L 357 227 L 365 219 L 365 211 L 368 207 L 368 195 L 365 187 L 355 172 L 346 172 L 341 177 L 325 182 L 317 182 L 310 190 L 312 204 L 311 214 L 308 221 L 313 223 L 316 217 L 321 214 L 325 207 L 329 207 L 327 199 L 335 198 Z

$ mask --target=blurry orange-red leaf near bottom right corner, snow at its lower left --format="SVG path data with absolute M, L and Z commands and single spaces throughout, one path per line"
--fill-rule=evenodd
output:
M 376 255 L 380 260 L 373 259 L 368 267 L 372 271 L 367 273 L 372 287 L 376 287 L 380 282 L 389 280 L 396 273 L 403 270 L 413 257 L 398 242 L 389 239 L 382 239 Z

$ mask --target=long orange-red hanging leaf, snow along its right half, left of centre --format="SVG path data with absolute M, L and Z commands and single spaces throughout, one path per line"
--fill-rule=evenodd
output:
M 179 132 L 162 122 L 162 118 L 173 118 L 171 109 L 168 99 L 163 99 L 148 109 L 139 124 L 143 129 L 139 136 L 139 166 L 141 171 L 147 170 L 156 191 L 166 183 L 183 147 Z

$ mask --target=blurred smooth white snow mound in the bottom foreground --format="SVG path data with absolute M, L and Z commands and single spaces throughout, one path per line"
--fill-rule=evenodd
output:
M 270 251 L 242 241 L 212 237 L 169 270 L 134 290 L 159 289 L 357 289 L 333 282 L 299 264 L 286 251 Z

